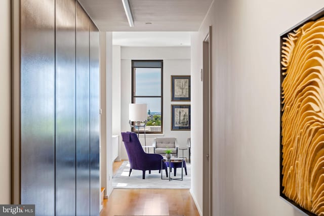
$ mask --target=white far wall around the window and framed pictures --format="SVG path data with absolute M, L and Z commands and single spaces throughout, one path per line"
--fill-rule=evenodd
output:
M 163 97 L 164 97 L 164 137 L 176 137 L 179 145 L 185 147 L 190 131 L 171 131 L 171 104 L 190 104 L 190 102 L 171 102 L 171 75 L 190 75 L 190 48 L 189 47 L 121 47 L 120 67 L 120 129 L 121 132 L 130 131 L 128 107 L 132 102 L 132 63 L 131 60 L 163 59 Z M 192 125 L 191 125 L 192 126 Z M 120 133 L 119 133 L 120 134 Z M 146 145 L 151 145 L 154 137 L 161 135 L 147 135 Z M 144 145 L 144 135 L 140 136 Z M 120 140 L 120 157 L 127 159 L 124 143 Z M 152 153 L 152 150 L 151 152 Z M 182 151 L 180 153 L 182 155 Z M 188 157 L 188 150 L 184 151 Z M 179 155 L 178 155 L 179 156 Z

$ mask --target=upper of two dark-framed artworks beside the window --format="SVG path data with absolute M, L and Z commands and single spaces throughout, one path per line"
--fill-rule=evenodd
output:
M 190 101 L 190 76 L 171 76 L 171 101 Z

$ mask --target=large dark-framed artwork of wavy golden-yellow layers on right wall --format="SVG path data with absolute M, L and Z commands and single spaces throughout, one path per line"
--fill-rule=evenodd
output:
M 280 196 L 309 215 L 324 215 L 323 15 L 280 37 Z

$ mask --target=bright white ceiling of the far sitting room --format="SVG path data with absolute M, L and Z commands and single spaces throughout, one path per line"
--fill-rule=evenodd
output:
M 113 32 L 112 44 L 124 47 L 186 47 L 190 46 L 190 32 Z

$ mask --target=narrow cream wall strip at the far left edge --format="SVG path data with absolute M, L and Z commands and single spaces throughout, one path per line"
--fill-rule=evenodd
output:
M 10 0 L 0 1 L 0 203 L 11 203 L 11 26 Z

